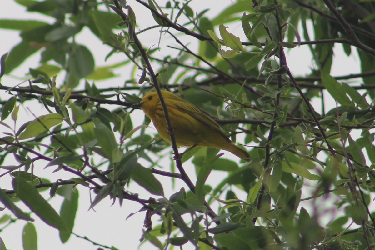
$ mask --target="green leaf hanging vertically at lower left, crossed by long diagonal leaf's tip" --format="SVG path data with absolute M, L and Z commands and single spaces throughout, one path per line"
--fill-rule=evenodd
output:
M 72 189 L 72 186 L 65 186 L 65 189 L 69 189 L 71 192 L 70 199 L 65 198 L 63 201 L 63 204 L 60 208 L 60 217 L 65 222 L 66 226 L 68 226 L 69 232 L 66 231 L 60 231 L 60 240 L 62 243 L 65 243 L 69 240 L 69 237 L 71 235 L 71 231 L 73 231 L 74 227 L 74 220 L 75 216 L 77 214 L 77 208 L 78 208 L 78 190 L 75 190 L 75 192 Z

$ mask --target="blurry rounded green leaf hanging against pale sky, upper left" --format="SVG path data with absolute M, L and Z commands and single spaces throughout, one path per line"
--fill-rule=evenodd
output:
M 94 71 L 94 66 L 94 57 L 86 46 L 72 46 L 68 61 L 69 72 L 81 79 L 90 75 Z

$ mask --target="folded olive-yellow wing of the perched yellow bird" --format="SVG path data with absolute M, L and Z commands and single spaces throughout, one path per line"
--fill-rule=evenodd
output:
M 225 133 L 222 132 L 219 124 L 217 124 L 217 122 L 214 121 L 211 117 L 200 111 L 196 106 L 192 105 L 191 103 L 183 99 L 180 99 L 178 102 L 174 102 L 174 105 L 177 109 L 180 109 L 181 111 L 191 115 L 193 118 L 200 121 L 201 123 L 210 126 L 214 130 L 216 130 L 217 133 L 219 133 L 223 138 L 231 142 L 228 136 L 226 136 Z

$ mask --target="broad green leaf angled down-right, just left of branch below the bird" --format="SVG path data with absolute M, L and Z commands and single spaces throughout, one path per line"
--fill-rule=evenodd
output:
M 130 174 L 130 177 L 151 194 L 164 195 L 162 184 L 154 177 L 150 169 L 138 164 Z

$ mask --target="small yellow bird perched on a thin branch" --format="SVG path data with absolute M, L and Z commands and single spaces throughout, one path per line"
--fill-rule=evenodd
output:
M 234 144 L 211 117 L 169 91 L 162 90 L 162 95 L 178 147 L 213 147 L 229 151 L 243 160 L 250 160 L 249 153 Z M 150 117 L 160 136 L 171 143 L 163 108 L 156 91 L 144 96 L 141 102 L 132 105 L 132 108 L 142 109 Z

